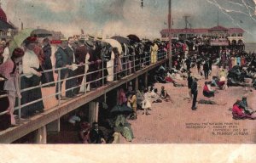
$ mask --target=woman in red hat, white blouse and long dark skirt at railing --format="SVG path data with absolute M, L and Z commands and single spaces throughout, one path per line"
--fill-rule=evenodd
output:
M 44 112 L 43 100 L 34 102 L 38 99 L 42 99 L 41 88 L 38 85 L 41 82 L 42 73 L 39 71 L 39 59 L 33 49 L 36 46 L 37 37 L 27 37 L 24 41 L 25 54 L 22 59 L 23 76 L 20 79 L 20 88 L 24 90 L 26 88 L 36 87 L 31 90 L 22 91 L 21 104 L 28 104 L 21 107 L 21 117 L 28 117 L 36 114 L 37 112 Z

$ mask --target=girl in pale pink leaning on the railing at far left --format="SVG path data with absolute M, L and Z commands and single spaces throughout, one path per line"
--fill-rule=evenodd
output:
M 3 65 L 0 65 L 0 74 L 7 78 L 4 83 L 3 89 L 8 93 L 9 108 L 8 114 L 10 115 L 11 126 L 16 126 L 15 122 L 15 98 L 21 98 L 20 87 L 18 83 L 19 70 L 18 64 L 20 63 L 24 51 L 21 48 L 15 48 L 10 59 L 7 59 Z

